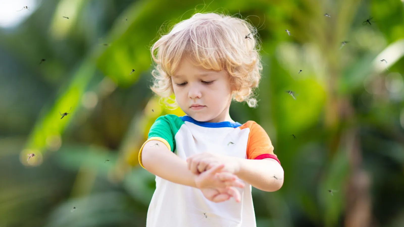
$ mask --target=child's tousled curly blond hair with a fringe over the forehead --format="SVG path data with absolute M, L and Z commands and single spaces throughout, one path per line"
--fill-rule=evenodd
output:
M 258 88 L 262 71 L 256 37 L 257 30 L 244 19 L 218 13 L 194 14 L 174 25 L 151 46 L 156 63 L 151 72 L 154 77 L 151 90 L 168 107 L 178 107 L 175 99 L 170 98 L 174 93 L 171 76 L 187 54 L 205 70 L 225 69 L 234 87 L 232 99 L 256 107 L 254 89 Z

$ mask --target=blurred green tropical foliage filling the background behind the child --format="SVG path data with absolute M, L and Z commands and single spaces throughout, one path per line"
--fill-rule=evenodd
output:
M 139 148 L 158 116 L 184 114 L 151 93 L 149 48 L 207 11 L 262 41 L 259 107 L 230 109 L 285 170 L 279 191 L 253 190 L 257 226 L 404 226 L 400 0 L 38 0 L 0 29 L 0 226 L 145 226 L 155 182 Z

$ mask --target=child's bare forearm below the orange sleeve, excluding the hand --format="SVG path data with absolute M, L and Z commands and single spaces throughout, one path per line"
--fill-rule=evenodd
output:
M 250 160 L 237 158 L 238 178 L 263 191 L 277 191 L 283 185 L 284 171 L 274 159 Z M 275 177 L 274 177 L 275 176 Z

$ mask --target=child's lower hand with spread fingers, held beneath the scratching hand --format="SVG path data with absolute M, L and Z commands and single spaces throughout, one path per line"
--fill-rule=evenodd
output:
M 214 166 L 213 168 L 202 172 L 195 178 L 196 187 L 225 189 L 226 187 L 244 187 L 244 183 L 238 177 L 229 172 L 221 172 L 224 165 Z

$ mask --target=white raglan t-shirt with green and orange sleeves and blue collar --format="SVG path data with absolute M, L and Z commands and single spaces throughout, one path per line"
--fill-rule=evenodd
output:
M 148 139 L 164 143 L 183 160 L 196 153 L 211 152 L 247 159 L 273 158 L 274 147 L 265 130 L 256 122 L 198 122 L 189 116 L 160 116 L 151 126 Z M 142 165 L 141 152 L 139 163 Z M 144 167 L 143 167 L 144 168 Z M 156 190 L 147 211 L 146 227 L 255 227 L 251 185 L 233 198 L 215 203 L 200 189 L 173 183 L 156 176 Z

